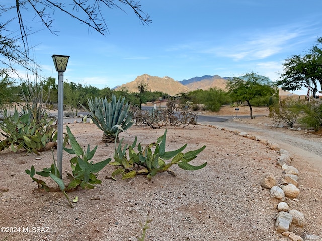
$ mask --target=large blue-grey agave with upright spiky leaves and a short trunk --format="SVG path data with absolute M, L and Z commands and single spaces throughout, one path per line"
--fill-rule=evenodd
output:
M 126 131 L 133 125 L 133 117 L 129 113 L 130 104 L 124 101 L 125 97 L 122 99 L 120 97 L 116 101 L 114 94 L 111 102 L 108 102 L 106 97 L 87 100 L 90 110 L 88 117 L 103 131 L 103 142 L 115 142 L 120 132 Z

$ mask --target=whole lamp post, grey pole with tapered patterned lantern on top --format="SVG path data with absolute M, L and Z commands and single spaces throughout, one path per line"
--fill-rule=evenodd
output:
M 64 72 L 66 71 L 69 56 L 52 56 L 56 71 L 58 72 L 58 120 L 57 120 L 57 168 L 62 177 L 62 133 L 63 133 L 63 115 L 64 115 Z

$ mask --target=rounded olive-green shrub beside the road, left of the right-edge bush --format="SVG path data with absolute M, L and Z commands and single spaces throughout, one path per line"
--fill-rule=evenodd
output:
M 275 122 L 285 123 L 293 127 L 304 108 L 305 103 L 303 101 L 286 98 L 281 100 L 278 106 L 272 108 L 271 116 Z

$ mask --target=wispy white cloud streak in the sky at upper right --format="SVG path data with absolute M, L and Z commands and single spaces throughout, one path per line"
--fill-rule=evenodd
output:
M 287 52 L 295 45 L 310 47 L 312 39 L 316 39 L 315 24 L 301 23 L 298 25 L 279 26 L 271 29 L 239 30 L 238 33 L 214 40 L 191 41 L 170 46 L 166 51 L 198 53 L 215 57 L 230 58 L 234 61 L 252 61 Z M 314 36 L 313 36 L 314 35 Z M 243 42 L 240 42 L 243 40 Z

